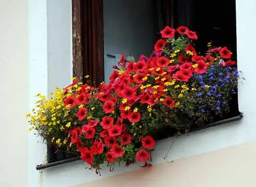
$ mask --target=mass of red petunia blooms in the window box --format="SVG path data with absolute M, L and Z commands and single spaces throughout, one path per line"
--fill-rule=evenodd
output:
M 109 84 L 101 84 L 98 88 L 85 84 L 73 96 L 65 99 L 65 105 L 69 108 L 76 107 L 78 121 L 86 123 L 70 130 L 71 143 L 76 145 L 85 162 L 93 166 L 95 155 L 104 154 L 105 160 L 109 163 L 114 163 L 116 159 L 124 156 L 124 146 L 134 143 L 134 136 L 138 136 L 131 133 L 127 124 L 139 124 L 143 112 L 147 111 L 147 107 L 142 109 L 140 106 L 152 107 L 162 104 L 173 109 L 175 99 L 164 91 L 168 88 L 168 83 L 173 80 L 188 82 L 193 73 L 206 72 L 208 66 L 214 62 L 215 57 L 209 54 L 198 56 L 191 44 L 187 44 L 184 49 L 172 51 L 171 57 L 162 55 L 167 44 L 166 39 L 173 38 L 176 32 L 189 39 L 197 39 L 196 33 L 185 26 L 177 30 L 167 26 L 161 31 L 163 39 L 157 41 L 150 58 L 142 56 L 138 62 L 128 62 L 122 56 L 120 68 L 112 72 Z M 226 47 L 208 52 L 218 52 L 223 59 L 231 58 L 231 52 Z M 229 60 L 224 65 L 233 63 Z M 75 81 L 72 85 L 76 83 Z M 68 87 L 66 89 L 68 92 Z M 100 110 L 104 111 L 104 117 L 87 118 L 88 111 L 92 110 L 88 108 L 92 97 L 102 103 Z M 80 105 L 83 106 L 78 107 Z M 89 142 L 89 146 L 84 145 L 82 137 Z M 149 151 L 154 148 L 155 140 L 151 136 L 139 139 L 142 146 L 136 152 L 135 159 L 137 162 L 146 163 L 151 160 Z

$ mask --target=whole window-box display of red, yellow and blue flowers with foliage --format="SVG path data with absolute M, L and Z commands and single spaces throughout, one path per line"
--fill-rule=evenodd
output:
M 54 98 L 40 96 L 39 109 L 29 116 L 32 129 L 79 153 L 98 172 L 105 161 L 110 169 L 119 162 L 151 166 L 159 129 L 189 129 L 227 114 L 239 77 L 231 51 L 208 44 L 199 55 L 197 35 L 185 26 L 167 26 L 161 35 L 149 58 L 134 62 L 122 55 L 109 84 L 94 87 L 74 78 Z

